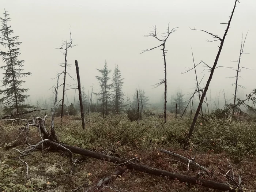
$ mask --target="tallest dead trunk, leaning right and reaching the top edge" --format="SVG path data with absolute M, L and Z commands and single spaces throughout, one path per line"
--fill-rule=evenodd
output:
M 198 115 L 199 115 L 200 109 L 201 109 L 202 104 L 203 104 L 203 101 L 204 101 L 204 97 L 205 97 L 206 92 L 207 92 L 207 90 L 208 90 L 208 88 L 209 88 L 209 86 L 210 86 L 210 82 L 211 82 L 211 79 L 212 79 L 212 76 L 213 76 L 213 73 L 214 73 L 214 69 L 216 68 L 216 65 L 217 65 L 217 63 L 218 63 L 219 56 L 221 55 L 221 50 L 222 50 L 222 48 L 223 48 L 223 44 L 224 44 L 224 41 L 225 41 L 225 38 L 226 38 L 226 35 L 227 35 L 227 31 L 229 30 L 230 23 L 231 23 L 231 20 L 232 20 L 232 18 L 233 18 L 233 15 L 234 15 L 234 12 L 235 12 L 235 8 L 236 8 L 237 2 L 240 3 L 238 0 L 235 0 L 234 7 L 233 7 L 233 10 L 232 10 L 231 16 L 230 16 L 230 18 L 229 18 L 229 22 L 228 22 L 228 23 L 225 23 L 225 24 L 227 24 L 227 29 L 225 30 L 225 33 L 224 33 L 224 35 L 223 35 L 223 38 L 220 38 L 220 37 L 219 37 L 218 35 L 216 35 L 216 34 L 209 33 L 209 32 L 207 32 L 207 31 L 204 31 L 204 30 L 201 30 L 201 29 L 192 29 L 192 30 L 196 30 L 196 31 L 204 31 L 204 32 L 206 32 L 206 33 L 212 35 L 214 38 L 217 38 L 217 39 L 215 39 L 215 40 L 213 40 L 213 41 L 221 41 L 221 45 L 219 46 L 219 51 L 218 51 L 217 56 L 216 56 L 216 58 L 215 58 L 214 64 L 213 64 L 213 66 L 211 67 L 210 76 L 209 76 L 208 81 L 207 81 L 207 83 L 206 83 L 206 87 L 204 88 L 204 91 L 203 91 L 203 93 L 202 93 L 202 97 L 201 97 L 201 99 L 200 99 L 200 102 L 199 102 L 199 105 L 198 105 L 198 107 L 197 107 L 195 116 L 194 116 L 194 118 L 193 118 L 193 122 L 192 122 L 192 124 L 191 124 L 190 129 L 189 129 L 189 133 L 188 133 L 187 139 L 185 140 L 184 147 L 183 147 L 184 149 L 187 148 L 187 146 L 188 146 L 188 140 L 189 140 L 189 138 L 190 138 L 191 135 L 192 135 L 192 132 L 193 132 L 194 127 L 195 127 L 195 124 L 196 124 L 197 117 L 198 117 Z

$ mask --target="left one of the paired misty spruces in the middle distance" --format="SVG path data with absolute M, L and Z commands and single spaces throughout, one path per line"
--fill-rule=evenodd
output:
M 109 73 L 111 70 L 108 70 L 107 62 L 105 61 L 104 68 L 103 69 L 97 69 L 98 72 L 101 73 L 101 76 L 96 76 L 96 79 L 99 81 L 99 84 L 101 86 L 101 92 L 100 93 L 94 93 L 98 95 L 98 101 L 102 102 L 101 107 L 101 114 L 104 118 L 105 115 L 109 114 L 109 101 L 111 98 L 110 89 L 112 88 L 112 84 L 108 84 L 108 81 L 110 80 Z

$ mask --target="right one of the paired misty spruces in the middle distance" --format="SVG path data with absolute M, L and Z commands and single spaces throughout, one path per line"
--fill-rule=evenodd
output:
M 123 82 L 124 79 L 121 79 L 121 73 L 120 69 L 118 68 L 118 65 L 115 65 L 114 74 L 112 77 L 112 84 L 113 84 L 113 91 L 112 91 L 112 103 L 114 110 L 117 114 L 120 114 L 123 111 L 124 105 L 123 105 Z

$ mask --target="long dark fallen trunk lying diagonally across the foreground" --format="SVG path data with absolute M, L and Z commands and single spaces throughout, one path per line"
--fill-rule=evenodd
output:
M 218 189 L 221 191 L 230 191 L 230 192 L 245 191 L 245 189 L 238 188 L 236 186 L 227 185 L 227 184 L 215 182 L 215 181 L 204 180 L 204 179 L 200 179 L 197 177 L 182 175 L 182 174 L 178 174 L 178 173 L 167 172 L 165 170 L 148 167 L 145 165 L 138 164 L 136 162 L 131 162 L 131 161 L 128 162 L 126 159 L 116 158 L 116 157 L 113 157 L 110 155 L 93 152 L 93 151 L 86 150 L 86 149 L 83 149 L 80 147 L 69 146 L 69 145 L 63 144 L 63 143 L 59 143 L 59 144 L 68 148 L 72 153 L 85 155 L 85 156 L 96 158 L 96 159 L 102 159 L 104 161 L 113 162 L 113 163 L 116 163 L 116 165 L 122 165 L 122 166 L 126 165 L 128 169 L 135 169 L 135 170 L 138 170 L 141 172 L 146 172 L 146 173 L 153 174 L 156 176 L 168 177 L 172 180 L 177 179 L 178 181 L 187 182 L 187 183 L 193 184 L 193 185 L 200 184 L 204 187 Z

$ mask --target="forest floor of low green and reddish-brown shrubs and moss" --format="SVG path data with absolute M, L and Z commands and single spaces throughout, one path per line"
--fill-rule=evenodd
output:
M 42 116 L 42 115 L 41 115 Z M 173 173 L 196 176 L 198 167 L 188 166 L 187 162 L 158 151 L 159 148 L 172 151 L 187 158 L 195 157 L 195 162 L 214 171 L 213 175 L 200 178 L 226 183 L 223 174 L 229 162 L 235 175 L 242 177 L 247 189 L 256 189 L 256 118 L 243 117 L 230 122 L 226 118 L 204 122 L 197 120 L 190 148 L 183 150 L 184 139 L 188 133 L 191 119 L 174 118 L 168 114 L 167 124 L 155 115 L 143 115 L 138 125 L 129 121 L 125 115 L 98 117 L 98 113 L 86 116 L 86 129 L 82 129 L 79 116 L 65 116 L 61 122 L 55 118 L 55 131 L 60 142 L 82 147 L 118 158 L 137 157 L 140 163 Z M 19 151 L 28 148 L 26 132 L 22 131 L 24 122 L 0 121 L 0 191 L 74 191 L 80 185 L 90 186 L 101 178 L 111 175 L 118 169 L 114 163 L 94 158 L 85 158 L 76 163 L 72 174 L 69 158 L 60 151 L 50 148 L 34 151 L 22 157 L 29 166 L 26 183 L 26 166 L 15 159 Z M 50 117 L 46 118 L 49 128 Z M 29 143 L 39 142 L 37 127 L 30 127 Z M 15 141 L 15 142 L 14 142 Z M 81 157 L 74 154 L 74 159 Z M 227 161 L 229 160 L 229 162 Z M 136 170 L 126 170 L 101 191 L 216 191 L 200 185 L 191 185 L 165 177 L 157 177 Z M 82 188 L 81 190 L 82 191 Z M 97 191 L 97 189 L 95 189 Z

